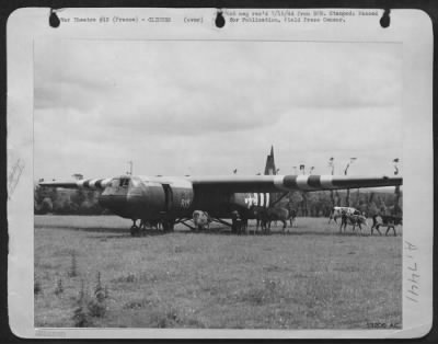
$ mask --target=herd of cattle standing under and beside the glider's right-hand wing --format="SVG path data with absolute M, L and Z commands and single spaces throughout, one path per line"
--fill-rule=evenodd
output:
M 297 226 L 297 211 L 295 209 L 287 208 L 262 208 L 255 211 L 256 217 L 256 226 L 252 226 L 249 228 L 247 218 L 244 218 L 240 215 L 239 211 L 234 210 L 231 213 L 231 231 L 237 234 L 249 233 L 252 229 L 255 234 L 258 229 L 261 229 L 263 234 L 270 233 L 272 223 L 277 221 L 283 223 L 283 232 L 288 232 L 289 228 L 293 228 Z M 341 220 L 338 222 L 338 220 Z M 195 210 L 193 213 L 193 223 L 194 230 L 209 230 L 210 223 L 212 219 L 208 215 L 207 211 Z M 339 232 L 346 232 L 347 226 L 351 226 L 353 231 L 356 230 L 356 227 L 359 229 L 358 233 L 361 233 L 362 227 L 369 228 L 367 217 L 365 214 L 351 207 L 334 207 L 328 217 L 328 223 L 334 221 L 336 225 L 339 223 Z M 385 228 L 385 236 L 392 230 L 394 236 L 396 236 L 395 228 L 397 226 L 402 226 L 403 219 L 401 216 L 393 215 L 374 215 L 372 216 L 372 226 L 370 228 L 371 236 L 374 230 L 381 236 L 381 228 Z M 288 227 L 288 223 L 290 227 Z M 152 227 L 154 229 L 160 229 L 160 223 L 142 223 L 146 229 L 146 226 Z

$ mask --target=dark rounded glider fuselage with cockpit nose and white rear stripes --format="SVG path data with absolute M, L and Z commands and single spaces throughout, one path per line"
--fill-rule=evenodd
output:
M 254 206 L 268 207 L 272 193 L 231 193 L 211 188 L 196 192 L 189 181 L 158 183 L 138 176 L 113 179 L 102 192 L 102 207 L 124 218 L 160 220 L 191 218 L 194 210 L 208 211 L 217 218 L 230 218 L 233 210 L 253 217 Z

